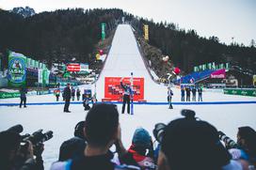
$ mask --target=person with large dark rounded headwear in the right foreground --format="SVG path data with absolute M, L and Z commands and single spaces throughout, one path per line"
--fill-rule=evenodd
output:
M 240 170 L 220 143 L 216 128 L 208 122 L 179 118 L 168 123 L 158 157 L 158 169 Z

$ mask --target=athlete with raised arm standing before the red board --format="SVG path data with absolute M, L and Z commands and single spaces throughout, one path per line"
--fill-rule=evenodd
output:
M 125 104 L 127 103 L 127 113 L 130 114 L 130 100 L 132 97 L 132 88 L 128 84 L 122 84 L 123 78 L 120 79 L 120 86 L 123 88 L 121 113 L 124 114 Z

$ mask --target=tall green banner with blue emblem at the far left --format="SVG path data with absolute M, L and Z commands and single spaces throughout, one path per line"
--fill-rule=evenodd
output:
M 8 86 L 19 87 L 26 81 L 26 57 L 24 54 L 8 54 Z

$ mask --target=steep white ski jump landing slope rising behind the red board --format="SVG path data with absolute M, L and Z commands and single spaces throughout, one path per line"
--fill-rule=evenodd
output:
M 97 98 L 104 98 L 105 77 L 130 77 L 131 72 L 134 73 L 134 77 L 144 78 L 145 100 L 163 101 L 167 98 L 167 87 L 155 84 L 146 69 L 132 27 L 129 24 L 120 24 L 106 58 L 104 70 L 96 83 Z

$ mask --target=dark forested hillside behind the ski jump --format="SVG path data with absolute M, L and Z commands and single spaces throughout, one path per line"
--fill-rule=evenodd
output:
M 125 17 L 136 29 L 136 39 L 141 52 L 151 60 L 152 70 L 159 77 L 165 76 L 173 67 L 189 73 L 194 66 L 209 62 L 225 63 L 256 72 L 256 48 L 243 44 L 220 43 L 215 36 L 201 38 L 196 30 L 184 31 L 174 23 L 154 23 L 135 17 L 121 9 L 62 9 L 42 12 L 24 18 L 21 15 L 0 10 L 0 53 L 12 50 L 38 59 L 51 66 L 53 62 L 88 62 L 93 68 L 95 53 L 101 47 L 101 23 L 106 23 L 106 38 L 113 37 L 115 28 Z M 143 41 L 143 24 L 149 25 L 149 41 Z M 109 50 L 111 39 L 106 40 L 104 49 Z M 169 62 L 162 62 L 163 56 Z M 7 57 L 3 59 L 6 67 Z M 250 79 L 250 78 L 249 78 Z M 248 80 L 249 80 L 248 79 Z

